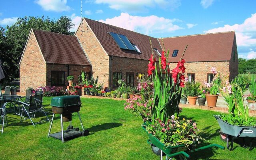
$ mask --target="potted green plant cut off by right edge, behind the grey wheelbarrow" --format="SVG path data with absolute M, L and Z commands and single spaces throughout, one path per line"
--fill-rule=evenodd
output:
M 256 76 L 251 77 L 251 82 L 249 84 L 250 95 L 246 98 L 250 110 L 256 110 Z

